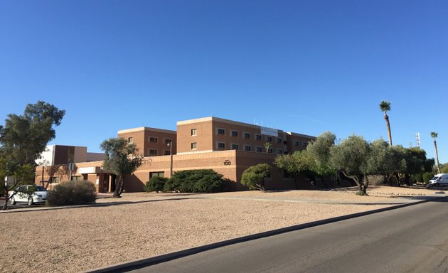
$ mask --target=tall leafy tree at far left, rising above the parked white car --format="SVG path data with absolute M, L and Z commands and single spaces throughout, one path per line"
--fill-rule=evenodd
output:
M 64 110 L 42 101 L 28 104 L 23 115 L 8 114 L 5 125 L 0 126 L 0 157 L 1 164 L 6 164 L 5 176 L 12 176 L 14 183 L 3 187 L 5 193 L 20 184 L 34 183 L 35 160 L 55 138 L 53 125 L 58 126 L 64 114 Z M 8 207 L 9 198 L 4 209 Z

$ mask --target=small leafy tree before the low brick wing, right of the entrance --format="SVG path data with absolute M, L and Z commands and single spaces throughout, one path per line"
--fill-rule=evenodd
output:
M 102 164 L 105 171 L 119 176 L 114 197 L 120 197 L 123 193 L 124 176 L 132 174 L 142 165 L 143 156 L 137 154 L 138 149 L 134 143 L 128 143 L 123 138 L 102 141 L 100 149 L 107 154 L 107 159 Z

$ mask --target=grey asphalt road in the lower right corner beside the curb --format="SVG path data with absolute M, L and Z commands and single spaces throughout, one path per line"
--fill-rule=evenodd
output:
M 448 202 L 242 242 L 132 272 L 448 272 Z

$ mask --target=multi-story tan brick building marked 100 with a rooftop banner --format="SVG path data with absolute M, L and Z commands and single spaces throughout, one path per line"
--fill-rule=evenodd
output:
M 212 168 L 223 174 L 227 191 L 245 189 L 240 184 L 242 172 L 260 163 L 273 165 L 278 154 L 305 149 L 314 137 L 282 130 L 235 122 L 217 117 L 205 117 L 177 122 L 177 131 L 139 127 L 120 130 L 118 137 L 137 144 L 144 163 L 126 177 L 124 191 L 143 191 L 152 176 L 169 177 L 171 171 Z M 172 144 L 170 154 L 170 146 Z M 68 167 L 38 167 L 36 183 L 68 180 Z M 83 178 L 95 184 L 97 191 L 114 191 L 112 173 L 102 170 L 102 161 L 75 164 L 72 178 Z M 297 183 L 273 166 L 267 188 L 309 188 L 302 179 Z M 318 183 L 319 186 L 319 183 Z M 328 186 L 328 185 L 327 185 Z

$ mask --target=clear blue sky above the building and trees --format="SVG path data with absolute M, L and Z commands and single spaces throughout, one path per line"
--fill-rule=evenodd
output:
M 66 114 L 50 144 L 215 116 L 388 139 L 448 162 L 448 1 L 0 1 L 0 124 Z

